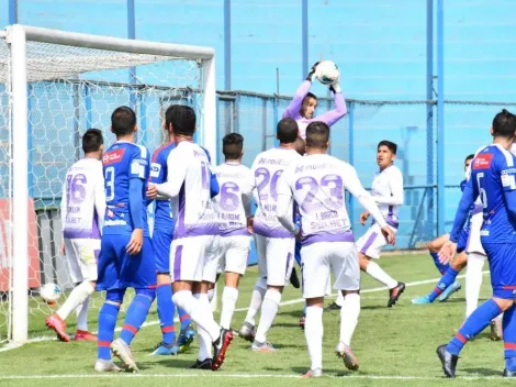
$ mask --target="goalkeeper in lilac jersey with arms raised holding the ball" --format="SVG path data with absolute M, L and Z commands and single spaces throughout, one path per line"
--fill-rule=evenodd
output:
M 304 80 L 295 91 L 295 96 L 292 99 L 292 102 L 287 107 L 287 110 L 283 112 L 283 118 L 291 118 L 298 122 L 299 125 L 299 135 L 305 137 L 306 125 L 311 122 L 322 121 L 325 122 L 328 126 L 332 126 L 344 115 L 346 115 L 347 108 L 346 101 L 343 97 L 343 91 L 340 89 L 339 80 L 336 79 L 329 86 L 329 90 L 334 93 L 335 98 L 335 109 L 330 110 L 324 114 L 315 117 L 315 108 L 317 108 L 317 97 L 310 92 L 310 87 L 315 79 L 315 71 L 317 70 L 317 65 L 321 63 L 317 62 L 314 64 Z

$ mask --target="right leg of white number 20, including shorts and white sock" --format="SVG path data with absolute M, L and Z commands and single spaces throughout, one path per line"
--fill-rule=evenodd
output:
M 256 330 L 251 350 L 271 352 L 274 347 L 267 342 L 267 333 L 272 327 L 281 302 L 281 295 L 290 277 L 294 263 L 295 240 L 292 237 L 267 239 L 267 291 L 261 305 L 261 317 Z

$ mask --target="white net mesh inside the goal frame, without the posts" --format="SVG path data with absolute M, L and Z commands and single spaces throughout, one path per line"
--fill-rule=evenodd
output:
M 191 106 L 202 123 L 203 73 L 199 60 L 36 42 L 27 42 L 26 59 L 31 198 L 29 336 L 34 338 L 47 334 L 42 330 L 44 318 L 57 307 L 38 297 L 40 286 L 55 283 L 66 291 L 75 285 L 59 248 L 59 204 L 64 177 L 71 164 L 82 157 L 82 134 L 89 128 L 100 129 L 108 147 L 115 140 L 110 132 L 112 111 L 119 106 L 130 106 L 138 120 L 138 144 L 154 152 L 168 141 L 161 129 L 161 114 L 169 104 Z M 9 64 L 9 46 L 0 40 L 0 291 L 3 295 L 0 340 L 3 342 L 9 340 L 12 324 Z M 65 299 L 66 294 L 58 302 Z

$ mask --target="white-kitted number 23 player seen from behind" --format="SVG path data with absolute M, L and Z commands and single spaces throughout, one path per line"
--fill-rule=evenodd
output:
M 278 183 L 278 219 L 293 235 L 300 228 L 292 221 L 292 199 L 301 213 L 303 297 L 306 299 L 305 336 L 312 366 L 305 377 L 323 374 L 323 303 L 329 270 L 341 291 L 340 340 L 335 350 L 348 369 L 358 369 L 350 341 L 360 313 L 360 269 L 346 211 L 344 190 L 355 196 L 373 217 L 379 232 L 394 244 L 395 233 L 373 198 L 363 189 L 355 168 L 326 154 L 329 126 L 313 122 L 306 128 L 306 153 L 287 167 Z

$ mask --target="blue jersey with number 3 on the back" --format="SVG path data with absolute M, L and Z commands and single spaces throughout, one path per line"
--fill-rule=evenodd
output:
M 130 180 L 142 179 L 142 215 L 144 236 L 149 236 L 147 225 L 147 180 L 150 172 L 150 157 L 147 148 L 127 142 L 115 142 L 104 153 L 105 201 L 104 235 L 131 235 L 133 221 L 130 210 Z

